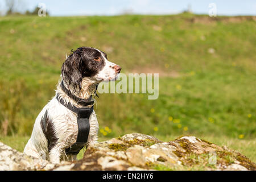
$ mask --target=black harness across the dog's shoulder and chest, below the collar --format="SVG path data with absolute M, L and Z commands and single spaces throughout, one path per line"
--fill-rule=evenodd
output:
M 93 106 L 79 108 L 71 105 L 70 102 L 68 102 L 68 104 L 65 104 L 64 100 L 61 99 L 59 94 L 56 95 L 56 98 L 60 102 L 60 104 L 64 105 L 69 110 L 77 114 L 78 134 L 76 138 L 76 143 L 74 143 L 71 147 L 65 149 L 66 154 L 77 155 L 79 154 L 79 151 L 85 146 L 88 140 L 89 131 L 90 131 L 89 118 L 90 118 L 90 114 L 92 114 L 93 112 Z

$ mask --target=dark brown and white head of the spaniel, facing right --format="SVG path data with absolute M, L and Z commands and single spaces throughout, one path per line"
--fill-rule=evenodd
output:
M 74 91 L 81 90 L 83 78 L 92 82 L 114 81 L 121 67 L 110 62 L 105 52 L 92 47 L 80 47 L 73 51 L 61 68 L 65 84 L 72 86 Z

